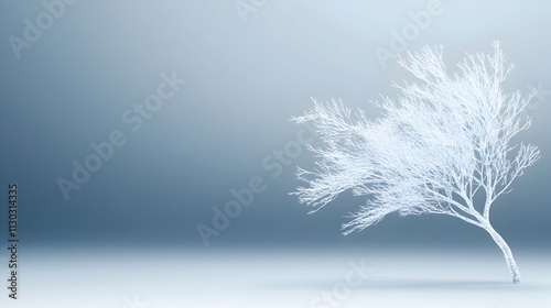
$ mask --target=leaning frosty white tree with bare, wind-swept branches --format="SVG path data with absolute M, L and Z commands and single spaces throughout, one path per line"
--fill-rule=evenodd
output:
M 512 145 L 530 125 L 523 112 L 531 92 L 504 95 L 501 82 L 512 68 L 504 66 L 499 42 L 494 54 L 467 54 L 460 73 L 449 76 L 442 46 L 408 53 L 399 64 L 421 80 L 396 85 L 402 95 L 374 103 L 383 117 L 369 120 L 341 101 L 314 108 L 296 122 L 313 121 L 323 140 L 316 167 L 298 170 L 309 184 L 295 194 L 317 211 L 352 189 L 368 196 L 365 206 L 343 224 L 344 234 L 361 231 L 386 215 L 443 213 L 486 230 L 504 252 L 512 282 L 520 276 L 512 253 L 489 222 L 490 207 L 508 193 L 512 180 L 540 156 L 533 145 Z M 515 153 L 514 153 L 515 152 Z M 477 194 L 478 193 L 478 194 Z M 475 202 L 476 196 L 484 196 Z

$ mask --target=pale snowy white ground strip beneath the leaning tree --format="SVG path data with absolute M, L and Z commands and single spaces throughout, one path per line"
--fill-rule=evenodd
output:
M 520 285 L 497 248 L 35 250 L 0 307 L 551 307 L 551 253 L 515 253 Z

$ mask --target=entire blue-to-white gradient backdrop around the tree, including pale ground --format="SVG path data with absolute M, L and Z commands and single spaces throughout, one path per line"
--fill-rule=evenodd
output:
M 350 292 L 342 307 L 455 307 L 455 299 L 465 298 L 473 300 L 471 307 L 549 307 L 550 3 L 68 2 L 0 1 L 0 196 L 6 201 L 0 211 L 1 286 L 8 284 L 7 200 L 12 182 L 19 186 L 21 240 L 21 297 L 8 298 L 2 287 L 1 307 L 132 307 L 127 301 L 134 294 L 148 298 L 150 307 L 324 307 L 312 298 L 331 290 L 338 275 L 344 277 L 348 261 L 368 254 L 376 255 L 371 263 L 377 273 L 397 271 L 396 284 L 381 287 L 375 279 Z M 54 11 L 47 13 L 48 8 Z M 426 14 L 430 20 L 414 23 Z M 37 34 L 29 23 L 44 29 Z M 23 45 L 13 47 L 13 37 Z M 495 229 L 520 256 L 521 273 L 532 266 L 532 277 L 540 275 L 533 278 L 537 287 L 509 300 L 500 295 L 516 292 L 508 289 L 505 261 L 483 230 L 450 217 L 391 215 L 361 233 L 342 237 L 341 223 L 348 220 L 344 216 L 364 198 L 343 194 L 309 216 L 309 209 L 288 195 L 301 185 L 294 177 L 296 165 L 314 161 L 304 146 L 296 146 L 312 133 L 289 121 L 310 109 L 310 97 L 341 98 L 379 117 L 368 101 L 379 94 L 396 96 L 391 80 L 412 77 L 393 58 L 378 57 L 377 50 L 395 53 L 400 42 L 411 50 L 443 44 L 444 61 L 453 70 L 465 52 L 491 52 L 493 40 L 501 41 L 515 63 L 505 90 L 540 90 L 528 108 L 533 124 L 518 140 L 538 145 L 542 157 L 491 211 Z M 140 127 L 128 123 L 130 118 L 138 121 L 134 106 L 156 94 L 162 74 L 186 82 L 172 85 L 174 95 Z M 73 162 L 84 164 L 95 153 L 90 143 L 108 141 L 116 130 L 126 143 L 116 146 L 112 157 L 72 190 L 68 200 L 64 198 L 58 178 L 72 180 Z M 284 157 L 278 161 L 280 153 Z M 212 228 L 213 207 L 224 209 L 236 199 L 231 189 L 248 187 L 251 179 L 266 188 L 205 246 L 197 226 Z M 439 252 L 450 255 L 434 257 Z M 466 258 L 457 257 L 460 252 L 468 252 Z M 476 253 L 487 253 L 487 263 L 480 264 Z M 333 254 L 338 257 L 329 257 Z M 415 257 L 437 268 L 431 270 L 436 277 L 424 277 L 434 284 L 396 270 L 411 270 L 408 264 Z M 460 260 L 460 267 L 445 257 Z M 228 260 L 235 262 L 224 263 Z M 301 274 L 313 264 L 306 260 L 320 266 Z M 252 275 L 260 271 L 256 264 L 268 271 L 263 273 L 277 272 L 278 285 L 266 284 L 262 292 L 248 288 L 271 275 Z M 437 283 L 449 277 L 446 271 L 468 271 L 472 264 L 480 274 L 457 278 L 460 292 L 453 283 Z M 496 266 L 495 275 L 485 264 Z M 309 276 L 335 266 L 337 278 L 327 278 L 326 285 Z M 122 267 L 134 276 L 121 274 Z M 194 290 L 206 275 L 208 280 Z M 523 277 L 529 285 L 530 275 Z M 476 287 L 469 285 L 474 278 L 480 279 Z M 242 297 L 226 290 L 235 279 L 247 282 Z M 410 284 L 404 287 L 403 280 Z M 442 285 L 447 287 L 442 290 Z M 306 286 L 306 295 L 301 286 Z M 152 289 L 159 296 L 150 294 Z M 230 296 L 222 300 L 225 294 Z M 404 294 L 417 295 L 404 306 L 390 300 Z M 219 301 L 213 301 L 216 295 Z M 186 301 L 192 296 L 196 300 Z M 363 301 L 363 296 L 374 301 Z M 276 298 L 296 300 L 276 304 Z M 436 299 L 431 304 L 428 298 Z M 525 299 L 530 306 L 517 304 Z

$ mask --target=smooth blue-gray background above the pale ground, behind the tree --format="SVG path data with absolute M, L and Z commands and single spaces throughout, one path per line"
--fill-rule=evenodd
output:
M 7 200 L 8 184 L 19 184 L 25 245 L 204 248 L 197 224 L 212 226 L 212 208 L 223 208 L 234 199 L 229 190 L 253 176 L 267 189 L 210 238 L 210 248 L 494 245 L 484 231 L 442 216 L 392 215 L 344 238 L 343 216 L 364 199 L 344 194 L 307 216 L 288 193 L 300 184 L 295 166 L 311 164 L 311 154 L 303 151 L 277 177 L 262 167 L 296 140 L 301 127 L 289 119 L 312 106 L 310 97 L 342 98 L 378 117 L 368 100 L 395 96 L 390 81 L 411 77 L 392 59 L 385 68 L 374 51 L 390 50 L 391 31 L 402 31 L 412 22 L 408 12 L 426 10 L 428 1 L 258 1 L 246 20 L 236 2 L 78 1 L 19 59 L 8 37 L 22 37 L 24 19 L 34 21 L 44 7 L 0 2 L 0 190 Z M 441 8 L 409 48 L 443 44 L 453 68 L 465 52 L 491 52 L 500 40 L 516 65 L 505 90 L 526 94 L 539 84 L 544 90 L 528 110 L 532 128 L 519 136 L 542 158 L 491 215 L 512 248 L 549 248 L 551 4 Z M 131 132 L 122 112 L 154 92 L 163 72 L 187 84 Z M 127 144 L 66 201 L 56 179 L 69 179 L 72 162 L 117 129 Z

